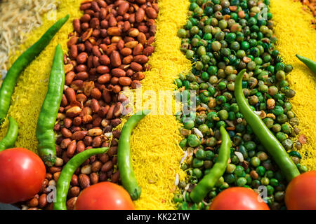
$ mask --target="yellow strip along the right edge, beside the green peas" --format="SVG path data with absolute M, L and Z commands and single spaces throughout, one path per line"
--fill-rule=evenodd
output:
M 296 58 L 303 55 L 316 61 L 316 31 L 312 29 L 312 15 L 304 13 L 300 2 L 273 0 L 270 10 L 275 22 L 276 48 L 284 61 L 294 66 L 287 76 L 296 95 L 291 99 L 293 111 L 300 120 L 300 134 L 305 134 L 307 144 L 299 151 L 301 163 L 309 169 L 316 169 L 316 76 L 305 64 Z

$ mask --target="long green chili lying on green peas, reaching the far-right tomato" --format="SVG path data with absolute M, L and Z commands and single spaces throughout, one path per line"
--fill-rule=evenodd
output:
M 251 110 L 244 93 L 242 92 L 242 78 L 246 69 L 240 71 L 235 80 L 235 97 L 237 104 L 239 106 L 240 112 L 246 119 L 254 133 L 261 141 L 261 144 L 265 149 L 272 155 L 272 158 L 275 160 L 279 168 L 282 170 L 283 174 L 287 178 L 287 181 L 291 181 L 294 177 L 298 176 L 300 172 L 298 171 L 296 165 L 289 157 L 289 154 L 283 148 L 282 144 L 277 141 L 277 138 L 274 134 L 265 126 L 265 123 L 259 118 L 254 111 Z

